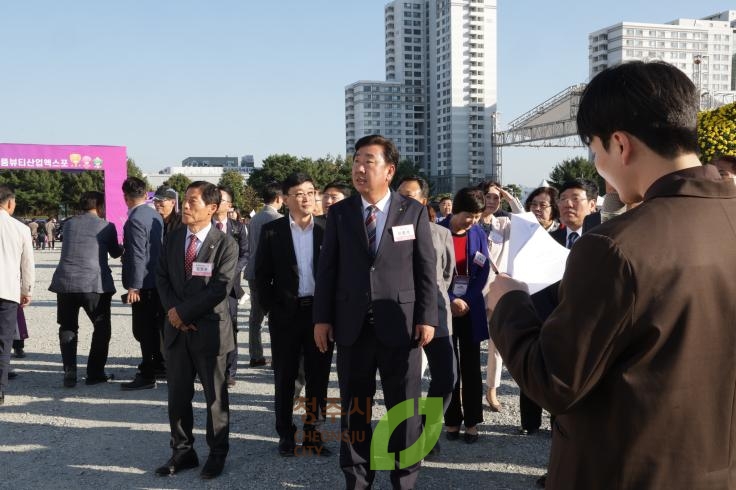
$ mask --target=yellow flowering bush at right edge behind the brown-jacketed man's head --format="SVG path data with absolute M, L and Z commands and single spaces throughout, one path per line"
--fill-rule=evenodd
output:
M 700 161 L 717 155 L 736 155 L 736 102 L 698 114 Z

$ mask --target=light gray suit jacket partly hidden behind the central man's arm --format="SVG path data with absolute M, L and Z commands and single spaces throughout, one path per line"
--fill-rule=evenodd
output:
M 452 233 L 444 226 L 436 223 L 429 224 L 432 232 L 432 244 L 437 254 L 437 329 L 435 337 L 452 335 L 452 312 L 450 311 L 450 296 L 447 290 L 452 284 L 452 273 L 455 270 L 455 246 L 452 243 Z

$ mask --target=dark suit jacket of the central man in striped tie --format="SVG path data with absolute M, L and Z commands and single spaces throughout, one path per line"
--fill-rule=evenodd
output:
M 315 323 L 330 323 L 335 341 L 352 345 L 373 309 L 378 339 L 411 343 L 414 325 L 437 325 L 436 256 L 427 211 L 391 192 L 375 259 L 368 250 L 359 194 L 330 207 L 314 295 Z M 415 239 L 395 242 L 392 227 L 412 225 Z

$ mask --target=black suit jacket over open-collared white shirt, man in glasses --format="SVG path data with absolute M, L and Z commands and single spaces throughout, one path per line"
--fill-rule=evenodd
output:
M 312 232 L 314 257 L 312 271 L 317 274 L 319 251 L 325 230 L 325 218 L 315 216 Z M 289 217 L 266 223 L 261 228 L 258 256 L 255 264 L 255 281 L 263 311 L 270 312 L 275 320 L 288 319 L 297 309 L 299 295 L 299 269 L 291 237 Z

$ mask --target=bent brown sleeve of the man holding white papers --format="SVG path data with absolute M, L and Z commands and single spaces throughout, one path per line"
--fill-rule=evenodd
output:
M 490 333 L 522 391 L 562 414 L 626 349 L 635 299 L 629 262 L 607 237 L 584 235 L 568 258 L 560 304 L 544 324 L 530 296 L 513 291 L 496 305 Z

